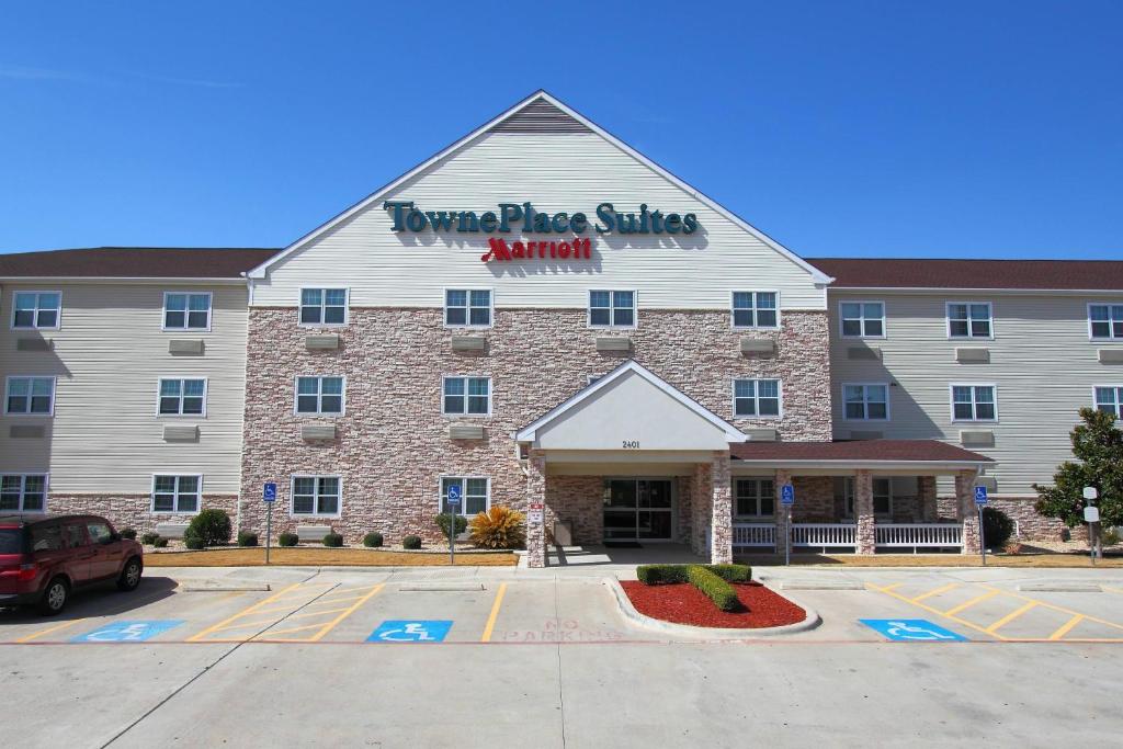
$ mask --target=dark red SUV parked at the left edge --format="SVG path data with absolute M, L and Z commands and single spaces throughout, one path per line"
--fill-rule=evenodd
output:
M 46 615 L 71 591 L 103 581 L 133 591 L 144 549 L 97 515 L 0 515 L 0 606 L 36 605 Z

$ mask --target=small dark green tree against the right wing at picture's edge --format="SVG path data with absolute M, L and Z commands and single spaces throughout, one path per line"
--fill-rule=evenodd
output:
M 1069 528 L 1084 522 L 1084 487 L 1099 492 L 1096 506 L 1105 526 L 1123 524 L 1123 431 L 1114 414 L 1080 409 L 1084 423 L 1072 429 L 1072 455 L 1057 467 L 1051 486 L 1033 484 L 1037 510 L 1048 518 L 1059 518 Z

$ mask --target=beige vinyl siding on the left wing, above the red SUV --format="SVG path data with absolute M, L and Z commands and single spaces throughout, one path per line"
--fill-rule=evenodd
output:
M 12 330 L 22 289 L 61 290 L 58 330 Z M 53 493 L 147 493 L 154 473 L 202 474 L 203 490 L 237 493 L 245 410 L 246 287 L 191 283 L 211 292 L 211 328 L 162 330 L 159 283 L 34 283 L 0 289 L 0 377 L 53 375 L 52 418 L 0 417 L 0 471 L 49 472 Z M 17 350 L 42 335 L 49 351 Z M 202 356 L 172 356 L 168 340 L 203 339 Z M 207 378 L 207 415 L 157 417 L 162 376 Z M 44 439 L 12 439 L 11 424 L 44 424 Z M 198 424 L 198 442 L 165 442 L 164 424 Z

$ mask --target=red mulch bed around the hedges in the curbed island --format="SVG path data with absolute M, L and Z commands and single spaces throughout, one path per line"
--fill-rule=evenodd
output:
M 639 581 L 620 583 L 632 605 L 641 614 L 676 624 L 755 629 L 795 624 L 806 612 L 760 583 L 732 583 L 740 611 L 722 611 L 690 583 L 645 585 Z

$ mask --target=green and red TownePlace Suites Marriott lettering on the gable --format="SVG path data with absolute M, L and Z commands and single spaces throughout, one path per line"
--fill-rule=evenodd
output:
M 649 211 L 647 203 L 640 203 L 638 212 L 617 212 L 612 203 L 596 207 L 596 219 L 592 222 L 582 212 L 560 211 L 547 213 L 536 211 L 524 203 L 499 203 L 497 211 L 423 211 L 412 200 L 387 200 L 382 208 L 390 211 L 393 231 L 432 230 L 457 231 L 462 234 L 573 234 L 573 238 L 539 239 L 537 241 L 515 240 L 508 244 L 505 238 L 489 237 L 490 249 L 481 261 L 510 262 L 520 259 L 592 259 L 592 239 L 582 237 L 590 228 L 596 234 L 641 234 L 641 235 L 691 235 L 697 231 L 699 220 L 694 213 L 664 213 Z

